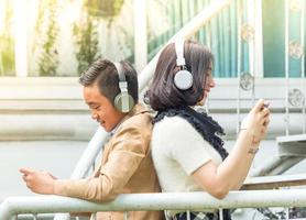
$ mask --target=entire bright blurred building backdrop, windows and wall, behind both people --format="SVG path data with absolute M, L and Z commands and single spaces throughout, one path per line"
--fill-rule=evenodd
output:
M 90 63 L 128 59 L 141 73 L 174 34 L 216 2 L 0 0 L 0 201 L 32 195 L 21 166 L 70 176 L 98 128 L 78 85 Z M 270 130 L 253 173 L 275 157 L 291 163 L 278 163 L 270 174 L 306 168 L 305 9 L 305 0 L 232 0 L 192 36 L 215 55 L 217 87 L 203 109 L 225 128 L 229 151 L 254 101 L 271 103 Z M 237 213 L 251 218 L 262 215 Z

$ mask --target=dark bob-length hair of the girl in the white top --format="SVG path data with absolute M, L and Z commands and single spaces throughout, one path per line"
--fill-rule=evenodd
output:
M 161 53 L 153 81 L 145 94 L 146 102 L 156 111 L 195 106 L 203 99 L 208 69 L 214 63 L 214 55 L 208 47 L 193 41 L 184 44 L 186 68 L 193 75 L 192 88 L 181 90 L 174 85 L 174 76 L 181 69 L 176 65 L 175 44 L 168 44 Z

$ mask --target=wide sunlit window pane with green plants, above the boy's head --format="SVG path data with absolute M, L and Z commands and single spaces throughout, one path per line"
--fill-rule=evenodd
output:
M 30 76 L 78 76 L 98 57 L 133 62 L 132 0 L 29 1 Z

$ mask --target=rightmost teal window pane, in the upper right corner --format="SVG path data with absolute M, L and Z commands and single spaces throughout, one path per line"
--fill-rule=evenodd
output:
M 285 77 L 285 1 L 270 0 L 262 3 L 264 76 Z M 289 44 L 297 45 L 295 43 L 300 43 L 300 11 L 289 9 L 288 25 Z M 289 77 L 300 77 L 300 57 L 289 56 Z

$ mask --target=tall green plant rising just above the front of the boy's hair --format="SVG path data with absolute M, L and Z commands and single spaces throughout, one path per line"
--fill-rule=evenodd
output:
M 76 58 L 78 61 L 78 74 L 80 75 L 86 68 L 99 57 L 99 40 L 97 24 L 90 16 L 84 12 L 81 20 L 74 24 Z

